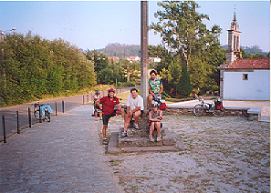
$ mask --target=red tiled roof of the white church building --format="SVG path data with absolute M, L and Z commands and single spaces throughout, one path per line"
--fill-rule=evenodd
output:
M 237 59 L 227 68 L 235 69 L 270 69 L 270 58 Z

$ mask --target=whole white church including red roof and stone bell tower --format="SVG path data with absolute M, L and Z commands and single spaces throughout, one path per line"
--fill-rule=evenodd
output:
M 220 97 L 225 100 L 270 100 L 270 59 L 242 58 L 236 15 L 228 30 L 226 64 L 220 66 Z

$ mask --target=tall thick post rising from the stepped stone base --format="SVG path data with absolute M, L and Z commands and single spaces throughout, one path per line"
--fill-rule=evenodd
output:
M 149 96 L 148 69 L 148 2 L 141 1 L 141 96 L 146 112 Z

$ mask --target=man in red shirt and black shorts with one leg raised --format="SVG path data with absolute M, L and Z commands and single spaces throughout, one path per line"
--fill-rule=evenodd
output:
M 108 96 L 103 96 L 100 98 L 97 103 L 102 104 L 102 136 L 103 136 L 103 142 L 102 144 L 106 145 L 108 144 L 108 139 L 106 137 L 106 131 L 109 125 L 109 118 L 116 116 L 117 109 L 120 110 L 120 101 L 119 98 L 115 95 L 115 89 L 109 88 L 109 94 Z M 117 109 L 115 107 L 117 106 Z

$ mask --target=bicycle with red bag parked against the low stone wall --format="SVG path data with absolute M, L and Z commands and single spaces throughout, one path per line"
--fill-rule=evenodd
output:
M 214 117 L 223 117 L 225 109 L 223 102 L 219 98 L 212 98 L 213 103 L 205 103 L 203 98 L 199 99 L 200 104 L 193 107 L 193 114 L 197 117 L 203 115 L 203 113 L 213 113 Z

